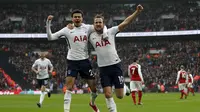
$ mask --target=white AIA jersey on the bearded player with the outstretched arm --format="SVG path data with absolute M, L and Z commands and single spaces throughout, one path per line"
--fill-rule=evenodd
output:
M 91 33 L 89 41 L 97 53 L 99 67 L 114 65 L 121 61 L 115 47 L 115 35 L 118 31 L 118 26 L 109 28 L 107 40 L 102 39 L 102 34 Z

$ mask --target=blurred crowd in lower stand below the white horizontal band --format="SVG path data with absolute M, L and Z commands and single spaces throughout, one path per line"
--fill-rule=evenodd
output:
M 154 88 L 156 84 L 164 84 L 165 88 L 174 88 L 177 71 L 180 65 L 186 70 L 190 69 L 193 76 L 199 75 L 200 69 L 200 40 L 134 40 L 117 39 L 117 51 L 122 59 L 123 71 L 128 78 L 127 68 L 134 57 L 140 58 L 142 73 L 147 88 Z M 32 84 L 33 88 L 37 83 L 36 75 L 31 71 L 33 62 L 39 58 L 38 51 L 42 48 L 49 52 L 47 56 L 54 65 L 56 76 L 53 77 L 55 85 L 62 88 L 66 71 L 67 46 L 62 40 L 48 41 L 1 41 L 1 50 L 11 52 L 9 63 L 16 67 L 16 70 L 23 72 L 24 80 Z M 90 57 L 94 71 L 98 78 L 96 56 Z M 3 79 L 2 79 L 3 80 Z M 195 87 L 198 82 L 195 81 Z M 78 80 L 75 87 L 84 88 L 84 81 Z

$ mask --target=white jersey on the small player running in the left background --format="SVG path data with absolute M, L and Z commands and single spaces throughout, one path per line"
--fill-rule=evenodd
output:
M 32 68 L 37 67 L 37 70 L 39 71 L 37 75 L 37 79 L 46 79 L 49 78 L 49 67 L 53 67 L 51 64 L 51 61 L 47 58 L 44 58 L 42 60 L 41 58 L 37 59 L 34 64 L 32 65 Z

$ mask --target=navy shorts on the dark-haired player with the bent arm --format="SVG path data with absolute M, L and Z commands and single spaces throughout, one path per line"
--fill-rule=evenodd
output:
M 91 63 L 88 59 L 79 61 L 67 60 L 67 64 L 66 77 L 77 77 L 79 73 L 81 78 L 95 79 Z

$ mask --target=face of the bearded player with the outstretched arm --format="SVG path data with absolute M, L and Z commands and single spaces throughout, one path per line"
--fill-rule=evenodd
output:
M 102 32 L 104 27 L 103 19 L 102 18 L 95 18 L 94 19 L 94 28 L 97 32 Z

